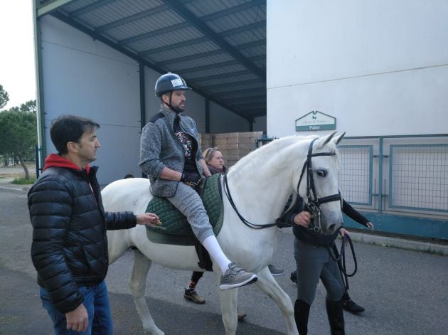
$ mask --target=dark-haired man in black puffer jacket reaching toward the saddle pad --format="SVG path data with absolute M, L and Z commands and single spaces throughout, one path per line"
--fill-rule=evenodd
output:
M 105 212 L 97 166 L 89 165 L 100 147 L 99 127 L 74 115 L 55 119 L 50 135 L 58 154 L 46 158 L 28 192 L 31 258 L 55 334 L 112 334 L 106 230 L 160 224 L 152 213 Z

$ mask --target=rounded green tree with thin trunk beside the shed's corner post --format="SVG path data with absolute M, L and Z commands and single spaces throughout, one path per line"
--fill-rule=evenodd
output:
M 30 179 L 26 157 L 33 154 L 37 142 L 36 108 L 33 110 L 33 106 L 36 106 L 36 101 L 0 112 L 0 154 L 18 159 L 26 179 Z

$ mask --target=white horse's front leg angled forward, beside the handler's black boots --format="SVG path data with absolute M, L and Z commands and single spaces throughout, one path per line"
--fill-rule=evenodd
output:
M 274 277 L 272 277 L 267 267 L 258 272 L 257 276 L 258 280 L 255 282 L 255 285 L 271 297 L 282 311 L 284 321 L 286 321 L 287 334 L 298 335 L 299 332 L 297 331 L 296 321 L 294 320 L 294 306 L 289 295 L 274 280 Z

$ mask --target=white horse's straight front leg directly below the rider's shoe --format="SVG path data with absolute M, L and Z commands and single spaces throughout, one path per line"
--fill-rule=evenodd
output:
M 235 335 L 238 326 L 237 303 L 238 303 L 238 288 L 221 290 L 219 289 L 221 271 L 213 269 L 218 279 L 218 294 L 221 307 L 221 315 L 223 317 L 223 324 L 226 335 Z

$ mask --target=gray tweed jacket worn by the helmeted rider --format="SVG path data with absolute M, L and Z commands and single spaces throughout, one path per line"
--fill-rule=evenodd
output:
M 161 179 L 160 174 L 164 167 L 182 172 L 185 164 L 185 156 L 181 142 L 174 134 L 174 118 L 176 112 L 165 110 L 161 107 L 158 114 L 144 126 L 142 138 L 140 139 L 140 162 L 144 174 L 148 175 L 151 181 L 151 193 L 154 196 L 169 197 L 174 196 L 178 181 Z M 196 143 L 193 145 L 196 155 L 196 166 L 199 174 L 203 176 L 201 164 L 202 153 L 198 140 L 198 129 L 196 122 L 191 117 L 181 115 L 181 128 L 183 132 L 193 137 Z

